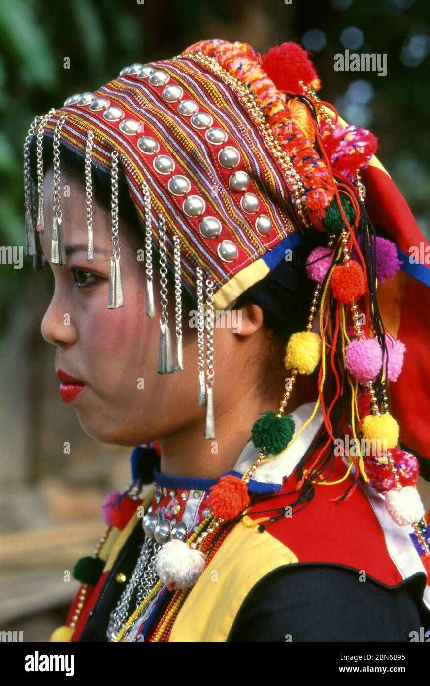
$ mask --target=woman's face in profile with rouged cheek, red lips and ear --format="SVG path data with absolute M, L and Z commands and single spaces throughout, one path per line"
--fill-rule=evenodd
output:
M 90 264 L 86 261 L 83 180 L 77 174 L 62 171 L 61 182 L 70 187 L 70 196 L 61 198 L 66 248 L 66 264 L 62 267 L 51 263 L 53 170 L 47 171 L 44 184 L 47 230 L 41 236 L 41 244 L 53 271 L 55 288 L 41 328 L 44 338 L 57 346 L 55 371 L 62 370 L 84 383 L 77 394 L 64 393 L 64 401 L 73 405 L 84 430 L 103 442 L 140 445 L 187 430 L 197 423 L 204 442 L 204 410 L 197 405 L 197 330 L 189 326 L 188 311 L 183 307 L 184 370 L 160 375 L 157 373 L 160 286 L 155 252 L 155 317 L 151 320 L 145 314 L 144 263 L 138 261 L 136 250 L 131 247 L 130 229 L 120 220 L 118 235 L 125 306 L 108 309 L 112 253 L 110 211 L 93 199 L 94 259 Z M 175 303 L 170 287 L 168 303 L 175 357 Z M 260 308 L 251 305 L 251 309 L 242 309 L 240 333 L 233 333 L 231 328 L 215 328 L 216 413 L 220 408 L 227 410 L 229 403 L 240 402 L 247 391 L 246 362 L 250 346 L 255 349 L 256 344 L 255 337 L 249 334 L 258 331 L 261 323 Z M 256 373 L 261 375 L 261 369 Z

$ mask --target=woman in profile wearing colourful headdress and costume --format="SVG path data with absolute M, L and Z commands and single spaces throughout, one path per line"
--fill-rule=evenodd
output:
M 425 473 L 430 280 L 407 259 L 423 239 L 375 138 L 319 85 L 297 45 L 205 40 L 29 130 L 26 246 L 55 276 L 60 396 L 90 436 L 136 446 L 54 641 L 430 624 L 411 453 Z

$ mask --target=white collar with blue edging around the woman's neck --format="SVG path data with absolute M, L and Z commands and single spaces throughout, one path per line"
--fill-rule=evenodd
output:
M 297 407 L 294 412 L 290 412 L 294 420 L 294 436 L 296 436 L 303 425 L 307 422 L 309 417 L 314 411 L 315 402 L 305 403 Z M 290 444 L 284 451 L 279 453 L 279 455 L 270 462 L 264 462 L 260 464 L 258 469 L 256 469 L 253 479 L 249 482 L 248 488 L 251 493 L 277 493 L 281 490 L 282 482 L 284 477 L 290 476 L 294 467 L 299 464 L 301 458 L 311 445 L 312 440 L 314 440 L 320 425 L 323 423 L 323 414 L 318 407 L 315 416 L 312 421 L 309 422 L 307 427 L 303 429 L 299 438 L 297 438 L 294 443 Z M 294 437 L 293 437 L 294 438 Z M 259 449 L 253 445 L 253 442 L 249 440 L 246 446 L 240 453 L 236 464 L 233 469 L 228 472 L 220 474 L 220 476 L 225 476 L 226 474 L 232 474 L 234 476 L 242 477 L 246 469 L 253 464 L 258 455 Z M 268 453 L 268 457 L 270 453 Z M 216 479 L 200 479 L 194 477 L 184 477 L 184 476 L 170 476 L 167 474 L 162 474 L 160 471 L 154 467 L 153 470 L 155 483 L 158 486 L 165 486 L 166 488 L 175 489 L 199 489 L 199 490 L 209 490 L 211 486 L 216 484 L 218 478 Z

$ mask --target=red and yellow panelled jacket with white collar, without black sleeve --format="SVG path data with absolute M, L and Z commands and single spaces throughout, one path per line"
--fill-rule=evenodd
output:
M 296 429 L 312 413 L 314 403 L 307 403 L 292 412 Z M 262 464 L 249 484 L 255 494 L 273 497 L 273 507 L 286 507 L 296 498 L 296 464 L 307 447 L 318 438 L 322 418 L 316 414 L 294 445 L 271 462 Z M 231 473 L 242 475 L 257 456 L 257 449 L 249 442 Z M 344 458 L 336 458 L 330 482 L 342 480 L 346 471 Z M 187 479 L 160 475 L 157 483 L 171 488 L 175 483 L 184 488 L 207 488 L 216 480 Z M 162 480 L 164 478 L 164 481 Z M 201 577 L 194 584 L 181 607 L 169 641 L 226 641 L 240 608 L 255 585 L 275 569 L 286 565 L 325 564 L 355 570 L 360 580 L 371 579 L 385 588 L 399 587 L 412 576 L 422 576 L 422 601 L 430 613 L 430 585 L 414 545 L 412 527 L 394 523 L 385 510 L 384 499 L 360 480 L 351 497 L 340 504 L 335 500 L 345 491 L 349 480 L 339 484 L 316 487 L 316 495 L 309 506 L 300 512 L 282 517 L 260 532 L 258 524 L 268 517 L 270 500 L 251 504 L 241 521 L 233 526 L 216 551 Z M 192 485 L 190 485 L 192 484 Z M 153 487 L 144 497 L 144 510 L 153 500 Z M 207 504 L 199 504 L 201 510 Z M 264 510 L 264 513 L 262 513 Z M 197 512 L 195 512 L 197 514 Z M 430 536 L 429 526 L 427 532 Z M 88 587 L 90 594 L 79 616 L 72 641 L 105 641 L 105 628 L 123 585 L 118 573 L 127 578 L 127 549 L 142 536 L 142 519 L 136 512 L 122 531 L 112 528 L 100 556 L 105 560 L 103 574 L 96 587 Z M 134 560 L 136 562 L 136 560 Z M 214 580 L 216 579 L 216 582 Z M 168 589 L 151 607 L 147 620 L 140 624 L 137 640 L 148 639 L 153 619 L 160 609 Z M 70 622 L 79 591 L 71 606 Z M 430 619 L 430 614 L 429 614 Z M 156 626 L 156 625 L 155 625 Z M 134 633 L 136 640 L 136 632 Z

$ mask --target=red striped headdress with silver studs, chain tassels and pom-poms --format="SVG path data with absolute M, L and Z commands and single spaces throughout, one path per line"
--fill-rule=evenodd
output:
M 298 45 L 284 43 L 262 58 L 243 43 L 203 40 L 175 58 L 131 64 L 94 93 L 68 97 L 62 108 L 36 117 L 26 139 L 27 254 L 34 255 L 35 268 L 40 268 L 38 233 L 46 229 L 44 154 L 46 160 L 52 145 L 51 258 L 64 264 L 60 150 L 73 151 L 85 161 L 88 263 L 97 241 L 92 178 L 106 172 L 112 176 L 107 305 L 127 306 L 118 233 L 118 178 L 124 177 L 144 227 L 150 318 L 160 297 L 157 371 L 184 368 L 181 296 L 186 289 L 197 302 L 197 402 L 205 407 L 204 435 L 212 439 L 215 312 L 231 309 L 284 259 L 286 250 L 299 246 L 309 227 L 316 227 L 327 237 L 326 245 L 307 259 L 314 298 L 306 330 L 293 333 L 286 346 L 290 377 L 279 410 L 264 412 L 255 421 L 251 434 L 260 453 L 242 479 L 227 475 L 212 489 L 212 522 L 205 536 L 246 508 L 247 485 L 259 464 L 296 440 L 286 405 L 297 375 L 315 372 L 316 408 L 323 411 L 327 441 L 307 476 L 302 474 L 302 483 L 311 483 L 321 464 L 327 464 L 342 421 L 355 438 L 381 441 L 380 450 L 350 458 L 349 471 L 356 467 L 354 486 L 362 475 L 385 494 L 394 521 L 413 526 L 429 570 L 429 530 L 416 489 L 416 458 L 409 452 L 416 451 L 428 464 L 429 248 L 373 156 L 375 137 L 342 122 L 332 106 L 318 99 L 319 87 L 312 62 Z M 30 175 L 33 137 L 37 184 Z M 385 230 L 385 237 L 377 236 L 374 225 Z M 411 249 L 418 250 L 415 258 Z M 153 288 L 156 258 L 160 294 Z M 174 274 L 174 294 L 168 292 L 168 270 Z M 168 320 L 172 297 L 175 322 Z M 148 520 L 146 526 L 151 528 Z M 177 560 L 179 541 L 170 543 Z M 188 541 L 183 583 L 192 583 L 201 573 L 200 543 L 197 534 Z M 160 556 L 160 578 L 169 566 L 166 551 Z M 170 586 L 180 587 L 171 574 L 168 579 Z

